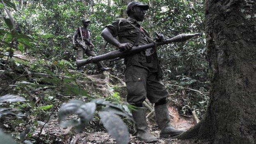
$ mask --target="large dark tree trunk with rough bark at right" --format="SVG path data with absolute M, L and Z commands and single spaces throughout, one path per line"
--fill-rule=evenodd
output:
M 206 0 L 210 103 L 178 138 L 254 144 L 256 135 L 255 0 Z

